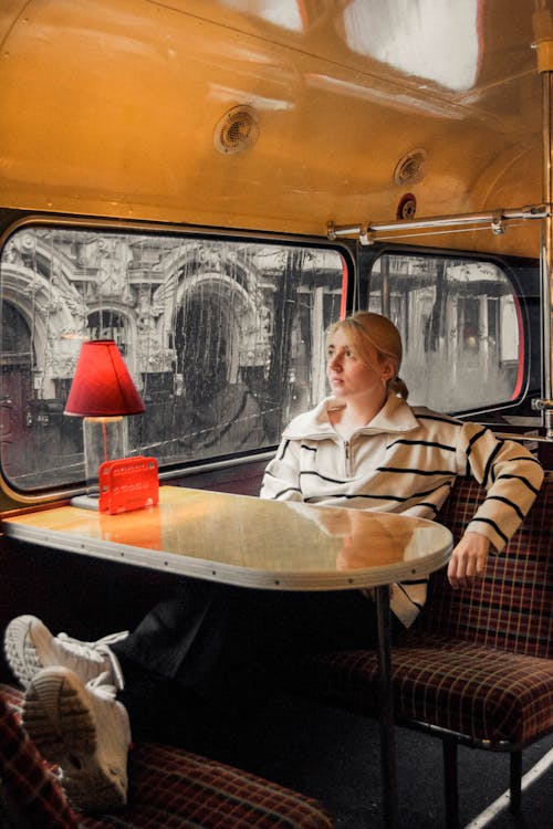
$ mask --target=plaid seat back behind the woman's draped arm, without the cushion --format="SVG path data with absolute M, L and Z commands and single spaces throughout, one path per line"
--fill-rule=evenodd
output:
M 486 490 L 459 478 L 437 521 L 460 539 Z M 488 559 L 486 576 L 472 588 L 452 590 L 446 569 L 430 578 L 418 630 L 440 632 L 513 653 L 553 657 L 553 472 L 518 532 Z

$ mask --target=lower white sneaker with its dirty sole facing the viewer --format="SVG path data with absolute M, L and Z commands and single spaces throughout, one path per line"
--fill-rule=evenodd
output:
M 67 668 L 45 668 L 31 680 L 22 721 L 41 754 L 61 769 L 77 809 L 106 811 L 127 801 L 131 726 L 105 675 L 87 684 Z

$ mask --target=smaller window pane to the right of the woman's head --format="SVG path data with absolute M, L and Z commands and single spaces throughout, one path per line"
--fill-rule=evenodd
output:
M 409 402 L 456 412 L 520 392 L 517 298 L 497 265 L 385 254 L 373 265 L 369 308 L 401 332 Z

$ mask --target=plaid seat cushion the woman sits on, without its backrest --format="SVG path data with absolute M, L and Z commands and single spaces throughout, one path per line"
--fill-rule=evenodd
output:
M 309 688 L 319 699 L 372 715 L 378 703 L 374 651 L 325 653 Z M 392 652 L 398 721 L 417 721 L 474 741 L 524 745 L 553 728 L 553 661 L 421 633 Z

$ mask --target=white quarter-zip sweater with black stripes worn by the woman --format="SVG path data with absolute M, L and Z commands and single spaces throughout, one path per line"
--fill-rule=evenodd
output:
M 487 497 L 466 529 L 501 550 L 530 510 L 543 480 L 523 447 L 389 395 L 376 417 L 344 441 L 328 420 L 341 406 L 324 399 L 298 416 L 267 466 L 260 495 L 325 506 L 435 518 L 456 475 L 472 475 Z M 426 580 L 394 586 L 392 610 L 408 627 L 426 600 Z

